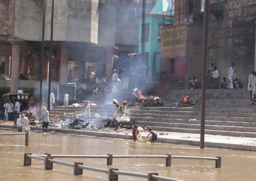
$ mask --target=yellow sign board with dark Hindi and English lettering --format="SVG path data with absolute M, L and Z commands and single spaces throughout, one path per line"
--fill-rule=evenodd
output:
M 187 26 L 166 28 L 161 31 L 161 49 L 185 48 L 187 44 Z

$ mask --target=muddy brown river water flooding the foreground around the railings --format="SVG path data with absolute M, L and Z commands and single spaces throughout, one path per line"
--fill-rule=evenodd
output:
M 12 131 L 2 131 L 7 133 Z M 44 162 L 32 159 L 32 166 L 23 166 L 24 153 L 74 154 L 74 155 L 184 155 L 222 157 L 222 167 L 215 168 L 215 161 L 172 159 L 172 166 L 165 166 L 165 159 L 129 158 L 113 159 L 107 166 L 106 159 L 56 158 L 66 162 L 83 162 L 86 166 L 102 169 L 117 168 L 122 171 L 159 173 L 185 181 L 256 181 L 256 152 L 225 149 L 199 149 L 164 143 L 135 143 L 131 140 L 104 139 L 72 135 L 30 133 L 29 145 L 25 136 L 0 136 L 0 181 L 106 181 L 108 174 L 83 170 L 74 176 L 73 168 L 54 164 L 53 170 L 44 170 Z M 145 181 L 145 178 L 119 176 L 119 180 Z

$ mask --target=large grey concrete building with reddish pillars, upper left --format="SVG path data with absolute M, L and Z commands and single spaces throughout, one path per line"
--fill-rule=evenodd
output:
M 46 0 L 43 80 L 48 80 L 51 0 Z M 139 0 L 56 0 L 53 23 L 53 74 L 68 81 L 68 62 L 75 61 L 83 82 L 88 62 L 102 64 L 111 79 L 113 55 L 138 50 Z M 147 1 L 153 7 L 155 1 Z M 43 0 L 0 0 L 0 89 L 12 93 L 38 85 L 42 39 Z M 141 11 L 141 8 L 140 8 Z M 129 25 L 129 26 L 127 26 Z M 19 80 L 19 73 L 34 81 Z M 79 85 L 78 85 L 79 86 Z

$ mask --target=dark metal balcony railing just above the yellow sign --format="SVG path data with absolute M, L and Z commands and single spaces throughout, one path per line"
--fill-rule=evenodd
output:
M 183 7 L 177 9 L 171 9 L 171 11 L 163 11 L 163 24 L 173 25 L 174 21 L 176 24 L 183 24 L 181 20 L 193 19 L 193 22 L 203 22 L 203 12 L 201 12 L 201 7 Z

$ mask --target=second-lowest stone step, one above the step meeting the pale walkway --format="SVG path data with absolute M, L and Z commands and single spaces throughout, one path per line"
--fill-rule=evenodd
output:
M 140 122 L 137 122 L 140 123 Z M 182 124 L 182 123 L 159 123 L 159 122 L 141 122 L 142 125 L 148 127 L 170 127 L 170 128 L 188 128 L 188 129 L 200 129 L 200 124 Z M 238 132 L 254 132 L 255 127 L 238 127 L 238 126 L 219 126 L 219 125 L 205 125 L 206 130 L 218 130 L 218 131 L 238 131 Z

